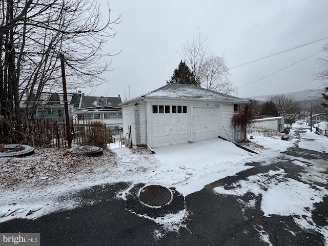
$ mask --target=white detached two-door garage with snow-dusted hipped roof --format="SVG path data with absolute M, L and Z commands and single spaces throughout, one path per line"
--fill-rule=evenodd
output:
M 242 140 L 231 118 L 238 105 L 248 103 L 194 85 L 168 84 L 119 106 L 124 136 L 131 135 L 133 145 L 155 148 L 218 136 Z

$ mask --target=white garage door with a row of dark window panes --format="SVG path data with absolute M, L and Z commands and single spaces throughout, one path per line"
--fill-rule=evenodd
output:
M 152 147 L 188 142 L 187 106 L 154 105 L 153 107 Z

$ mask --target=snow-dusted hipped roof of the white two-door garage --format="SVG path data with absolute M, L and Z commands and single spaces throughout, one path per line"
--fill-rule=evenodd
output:
M 141 97 L 174 97 L 179 99 L 227 100 L 238 101 L 239 103 L 248 103 L 248 100 L 204 89 L 194 85 L 167 84 L 154 91 L 148 92 L 132 100 L 126 101 L 125 103 L 122 103 L 122 105 L 132 103 L 133 101 L 139 100 Z

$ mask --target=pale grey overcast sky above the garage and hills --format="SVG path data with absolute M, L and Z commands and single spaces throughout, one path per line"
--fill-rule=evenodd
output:
M 85 94 L 120 94 L 124 99 L 129 86 L 130 97 L 135 97 L 165 85 L 181 60 L 181 45 L 199 35 L 208 37 L 209 52 L 229 61 L 239 97 L 320 87 L 312 73 L 324 52 L 252 82 L 320 52 L 328 39 L 233 67 L 328 37 L 327 0 L 112 0 L 109 6 L 113 19 L 121 14 L 121 23 L 113 26 L 117 34 L 107 49 L 121 52 L 112 57 L 114 70 L 105 74 L 108 83 L 83 89 Z

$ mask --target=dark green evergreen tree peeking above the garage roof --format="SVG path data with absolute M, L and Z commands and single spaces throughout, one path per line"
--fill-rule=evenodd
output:
M 185 61 L 180 61 L 178 68 L 173 72 L 173 75 L 167 84 L 185 84 L 185 85 L 195 85 L 199 86 L 195 79 L 194 73 L 187 66 Z

